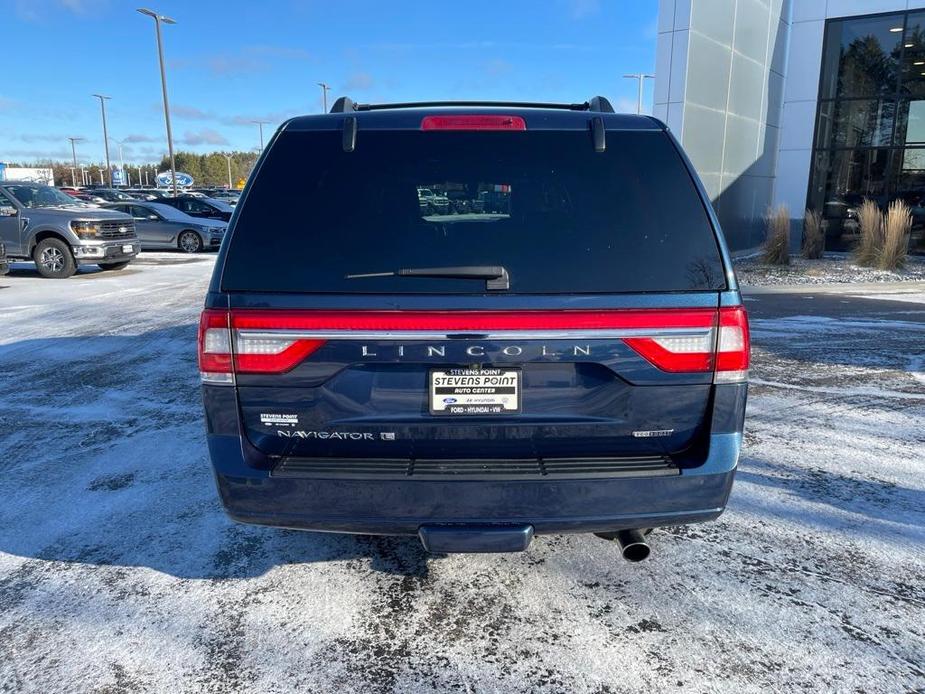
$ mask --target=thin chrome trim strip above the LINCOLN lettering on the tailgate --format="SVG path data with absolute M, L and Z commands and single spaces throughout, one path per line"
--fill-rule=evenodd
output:
M 501 330 L 478 332 L 464 330 L 438 332 L 433 330 L 360 331 L 360 330 L 250 330 L 236 328 L 239 337 L 292 340 L 608 340 L 624 337 L 706 337 L 713 328 L 617 328 L 609 330 Z

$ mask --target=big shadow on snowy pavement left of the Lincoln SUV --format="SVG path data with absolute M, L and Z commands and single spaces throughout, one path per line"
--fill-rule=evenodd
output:
M 245 526 L 225 515 L 195 344 L 196 326 L 185 324 L 0 345 L 0 552 L 188 579 L 354 561 L 425 576 L 416 537 Z

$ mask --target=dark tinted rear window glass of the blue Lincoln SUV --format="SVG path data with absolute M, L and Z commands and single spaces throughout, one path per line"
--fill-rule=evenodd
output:
M 709 219 L 662 132 L 283 133 L 227 250 L 230 291 L 484 293 L 485 281 L 348 275 L 503 266 L 509 293 L 721 289 Z

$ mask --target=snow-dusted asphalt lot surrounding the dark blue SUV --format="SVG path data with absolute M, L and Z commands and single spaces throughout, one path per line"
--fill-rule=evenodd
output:
M 720 520 L 652 558 L 235 525 L 204 443 L 211 256 L 0 277 L 0 690 L 925 690 L 925 292 L 749 296 Z

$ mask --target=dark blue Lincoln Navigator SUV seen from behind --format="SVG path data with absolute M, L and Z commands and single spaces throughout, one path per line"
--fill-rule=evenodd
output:
M 641 559 L 649 529 L 723 511 L 749 336 L 659 121 L 342 98 L 258 162 L 199 361 L 235 520 L 432 552 L 592 532 Z

